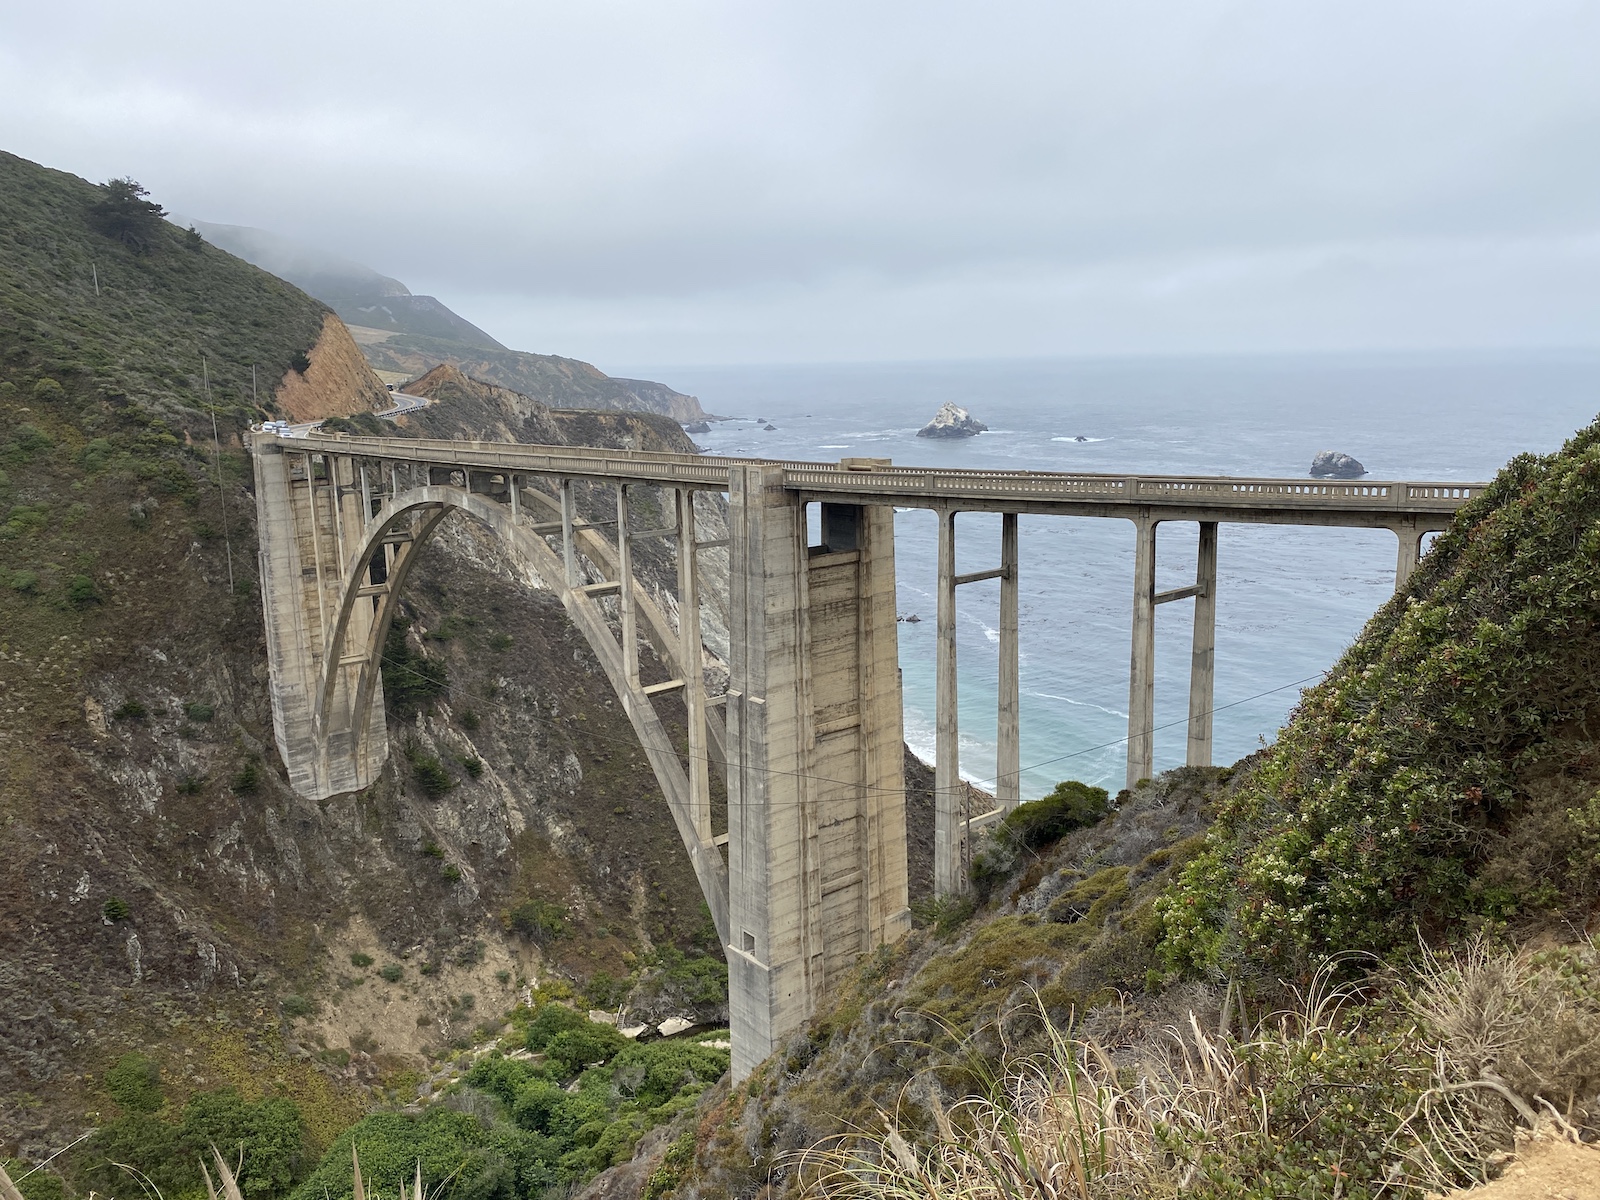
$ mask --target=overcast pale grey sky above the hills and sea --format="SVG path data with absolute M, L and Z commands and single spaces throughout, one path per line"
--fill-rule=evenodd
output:
M 0 133 L 611 370 L 1600 346 L 1595 0 L 14 0 Z

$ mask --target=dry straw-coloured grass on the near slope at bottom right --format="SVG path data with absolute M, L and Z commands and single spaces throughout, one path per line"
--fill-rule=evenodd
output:
M 1594 1136 L 1594 946 L 1432 958 L 1378 1014 L 1325 968 L 1248 1037 L 1186 1027 L 1125 1045 L 1048 1026 L 990 1096 L 888 1115 L 802 1157 L 826 1200 L 1134 1200 L 1152 1195 L 1419 1195 L 1478 1182 L 1517 1125 Z M 1226 1018 L 1224 1018 L 1226 1021 Z M 1094 1022 L 1090 1022 L 1091 1026 Z M 931 1090 L 931 1091 L 936 1091 Z

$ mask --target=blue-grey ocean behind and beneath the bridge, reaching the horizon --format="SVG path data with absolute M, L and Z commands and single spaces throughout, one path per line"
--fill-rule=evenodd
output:
M 902 466 L 1306 477 L 1322 450 L 1373 480 L 1486 480 L 1600 411 L 1600 354 L 1304 355 L 843 366 L 638 366 L 731 418 L 706 451 Z M 987 434 L 915 437 L 946 400 Z M 765 426 L 774 426 L 766 430 Z M 1086 440 L 1078 440 L 1086 438 Z M 933 758 L 936 520 L 894 520 L 906 741 Z M 1157 587 L 1194 582 L 1197 526 L 1162 525 Z M 1122 786 L 1133 525 L 1021 517 L 1022 795 Z M 1000 518 L 957 518 L 957 570 L 998 563 Z M 1270 742 L 1394 590 L 1387 531 L 1224 525 L 1216 762 Z M 998 584 L 962 587 L 962 774 L 992 787 Z M 1155 766 L 1184 762 L 1192 605 L 1157 610 Z

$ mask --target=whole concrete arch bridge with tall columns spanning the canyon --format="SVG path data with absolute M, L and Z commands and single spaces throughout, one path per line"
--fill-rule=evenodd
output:
M 1218 525 L 1387 528 L 1403 584 L 1426 533 L 1480 483 L 1382 483 L 1051 472 L 925 470 L 525 446 L 280 435 L 251 438 L 261 590 L 277 746 L 298 792 L 366 787 L 387 755 L 381 654 L 406 576 L 459 510 L 555 587 L 594 648 L 662 794 L 726 947 L 733 1074 L 747 1075 L 816 1010 L 856 958 L 909 928 L 894 507 L 939 514 L 934 886 L 965 886 L 968 843 L 1019 797 L 1018 515 L 1133 522 L 1128 779 L 1152 774 L 1155 606 L 1195 602 L 1189 762 L 1211 757 Z M 579 514 L 574 488 L 614 496 Z M 672 520 L 640 528 L 642 488 Z M 726 538 L 702 538 L 696 493 L 726 496 Z M 630 498 L 630 493 L 634 496 Z M 810 544 L 806 506 L 819 506 Z M 958 512 L 1000 512 L 998 565 L 955 573 Z M 610 509 L 608 509 L 610 514 Z M 1155 530 L 1198 522 L 1195 582 L 1155 590 Z M 675 547 L 677 621 L 634 570 L 635 547 Z M 730 682 L 707 694 L 701 555 L 728 552 Z M 998 806 L 966 811 L 957 755 L 955 595 L 1000 581 Z M 640 638 L 667 678 L 640 675 Z M 686 752 L 658 712 L 682 699 Z M 728 789 L 712 827 L 710 773 Z

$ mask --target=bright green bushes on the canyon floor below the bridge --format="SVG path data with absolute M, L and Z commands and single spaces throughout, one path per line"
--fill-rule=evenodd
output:
M 366 1186 L 397 1190 L 416 1174 L 427 1195 L 520 1200 L 568 1189 L 627 1162 L 650 1130 L 693 1110 L 728 1070 L 726 1030 L 629 1042 L 555 1000 L 518 1008 L 486 1053 L 426 1106 L 371 1112 L 320 1154 L 291 1096 L 250 1101 L 237 1088 L 168 1094 L 157 1064 L 130 1053 L 107 1072 L 117 1115 L 51 1171 L 21 1181 L 26 1200 L 208 1197 L 211 1147 L 237 1166 L 243 1197 L 325 1200 Z

